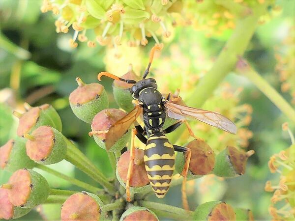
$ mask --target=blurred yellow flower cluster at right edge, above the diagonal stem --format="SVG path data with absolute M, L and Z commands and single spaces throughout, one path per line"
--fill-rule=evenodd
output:
M 281 91 L 290 92 L 292 103 L 295 104 L 295 26 L 290 28 L 288 36 L 283 41 L 283 46 L 276 49 L 276 70 L 280 75 Z

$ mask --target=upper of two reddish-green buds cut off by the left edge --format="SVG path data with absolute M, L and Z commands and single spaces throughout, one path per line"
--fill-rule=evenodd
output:
M 21 168 L 32 168 L 35 163 L 26 153 L 26 143 L 23 140 L 10 139 L 0 147 L 0 168 L 14 172 Z

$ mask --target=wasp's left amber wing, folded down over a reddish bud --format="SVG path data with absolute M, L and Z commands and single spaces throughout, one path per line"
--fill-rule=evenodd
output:
M 136 118 L 142 113 L 143 108 L 138 105 L 130 111 L 122 119 L 118 120 L 115 124 L 112 125 L 109 132 L 106 134 L 106 149 L 109 150 L 119 138 L 121 138 Z

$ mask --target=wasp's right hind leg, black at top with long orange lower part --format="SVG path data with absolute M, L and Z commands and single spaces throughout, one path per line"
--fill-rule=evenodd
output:
M 191 159 L 191 150 L 190 150 L 190 148 L 187 148 L 184 146 L 173 145 L 173 147 L 174 147 L 175 151 L 184 152 L 184 154 L 185 154 L 185 158 L 186 158 L 185 164 L 184 164 L 183 170 L 181 172 L 181 176 L 183 176 L 181 193 L 182 193 L 183 208 L 186 210 L 189 210 L 189 205 L 188 205 L 187 195 L 186 195 L 186 177 L 187 177 L 189 163 L 190 163 L 190 159 Z

